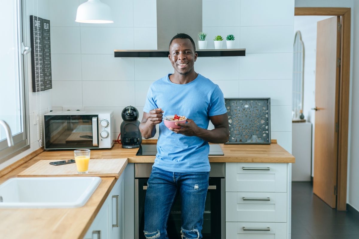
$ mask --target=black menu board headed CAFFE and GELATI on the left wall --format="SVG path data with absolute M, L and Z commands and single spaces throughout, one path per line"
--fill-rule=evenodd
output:
M 52 89 L 50 20 L 30 16 L 32 92 Z

